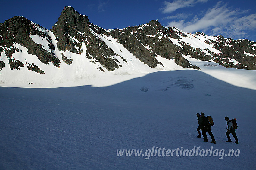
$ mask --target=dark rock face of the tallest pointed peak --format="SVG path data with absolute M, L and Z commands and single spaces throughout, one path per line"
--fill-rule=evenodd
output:
M 109 71 L 118 68 L 114 59 L 117 54 L 95 34 L 101 34 L 105 30 L 90 23 L 87 16 L 80 15 L 74 8 L 65 7 L 51 31 L 57 37 L 59 50 L 83 53 L 81 46 L 84 43 L 88 59 L 96 59 Z

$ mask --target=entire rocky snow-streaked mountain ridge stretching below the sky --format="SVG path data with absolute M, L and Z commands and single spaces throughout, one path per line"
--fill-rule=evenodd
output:
M 222 35 L 212 37 L 202 32 L 186 33 L 176 27 L 166 28 L 158 20 L 121 30 L 105 30 L 90 23 L 86 15 L 79 14 L 70 6 L 63 9 L 50 30 L 15 16 L 0 24 L 0 35 L 1 76 L 3 73 L 10 76 L 14 68 L 19 70 L 23 67 L 37 74 L 45 74 L 49 70 L 52 70 L 49 74 L 55 74 L 60 72 L 58 69 L 70 69 L 66 65 L 75 65 L 78 62 L 75 58 L 83 58 L 83 63 L 78 63 L 79 67 L 85 67 L 80 68 L 83 72 L 80 77 L 88 72 L 95 74 L 92 69 L 133 74 L 148 72 L 149 68 L 172 67 L 163 64 L 161 61 L 164 59 L 183 68 L 201 69 L 192 65 L 187 57 L 215 62 L 227 68 L 256 70 L 256 43 L 253 41 L 232 40 Z M 138 65 L 129 62 L 135 60 Z M 46 67 L 51 63 L 58 69 L 53 71 L 52 66 Z M 2 78 L 2 83 L 4 79 L 6 77 Z

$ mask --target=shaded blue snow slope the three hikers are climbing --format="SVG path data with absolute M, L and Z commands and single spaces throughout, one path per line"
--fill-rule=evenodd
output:
M 208 66 L 201 71 L 158 71 L 137 78 L 117 75 L 113 80 L 95 79 L 93 86 L 0 87 L 0 169 L 254 169 L 254 72 L 243 72 L 249 75 L 242 79 L 243 85 L 238 82 L 243 77 L 240 70 L 201 64 Z M 237 78 L 226 81 L 250 88 L 219 80 L 225 76 Z M 114 83 L 120 77 L 127 80 Z M 213 117 L 216 144 L 196 138 L 196 113 L 201 112 Z M 226 142 L 225 116 L 237 119 L 239 144 Z M 194 146 L 240 153 L 222 159 L 175 153 L 149 159 L 117 156 L 117 149 L 145 153 L 152 147 L 191 150 Z

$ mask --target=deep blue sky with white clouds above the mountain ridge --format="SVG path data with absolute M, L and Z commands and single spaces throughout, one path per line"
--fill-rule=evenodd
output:
M 176 26 L 184 32 L 256 41 L 256 0 L 0 0 L 0 23 L 21 15 L 51 29 L 67 5 L 104 29 L 123 29 L 158 19 L 163 26 Z

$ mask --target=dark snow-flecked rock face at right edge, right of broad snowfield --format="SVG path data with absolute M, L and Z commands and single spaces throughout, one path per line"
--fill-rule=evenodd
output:
M 196 37 L 205 36 L 204 33 L 195 33 Z M 188 54 L 195 59 L 204 61 L 214 61 L 220 65 L 227 68 L 239 68 L 239 69 L 250 69 L 256 70 L 255 63 L 256 60 L 256 43 L 244 40 L 233 40 L 231 38 L 225 39 L 222 35 L 215 36 L 217 41 L 205 40 L 204 42 L 213 46 L 215 49 L 219 50 L 221 53 L 210 52 L 212 56 L 205 55 L 200 49 L 188 50 Z M 245 54 L 249 53 L 249 55 Z

